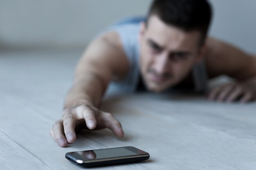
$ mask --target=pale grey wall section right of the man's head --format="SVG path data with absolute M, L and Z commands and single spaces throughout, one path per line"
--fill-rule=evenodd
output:
M 210 35 L 256 54 L 256 0 L 209 0 L 214 8 Z

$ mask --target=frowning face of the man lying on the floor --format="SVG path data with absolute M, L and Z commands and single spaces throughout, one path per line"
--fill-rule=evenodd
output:
M 201 59 L 199 31 L 185 32 L 150 16 L 140 30 L 140 71 L 147 88 L 161 92 L 180 83 Z

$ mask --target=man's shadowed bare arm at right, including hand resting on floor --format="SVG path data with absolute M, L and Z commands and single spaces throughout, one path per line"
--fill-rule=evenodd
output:
M 247 102 L 256 99 L 256 57 L 225 42 L 209 38 L 207 69 L 211 78 L 228 75 L 236 81 L 211 90 L 209 98 L 218 101 Z

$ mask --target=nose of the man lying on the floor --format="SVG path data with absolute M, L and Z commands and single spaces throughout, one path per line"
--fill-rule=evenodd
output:
M 166 73 L 166 70 L 168 68 L 168 54 L 161 54 L 157 56 L 155 61 L 155 71 L 158 74 L 164 74 Z

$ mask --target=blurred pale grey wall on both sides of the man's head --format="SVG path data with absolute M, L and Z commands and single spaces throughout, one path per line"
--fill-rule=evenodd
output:
M 256 0 L 209 0 L 210 35 L 256 54 Z M 120 18 L 144 15 L 151 0 L 1 0 L 0 44 L 84 47 Z

